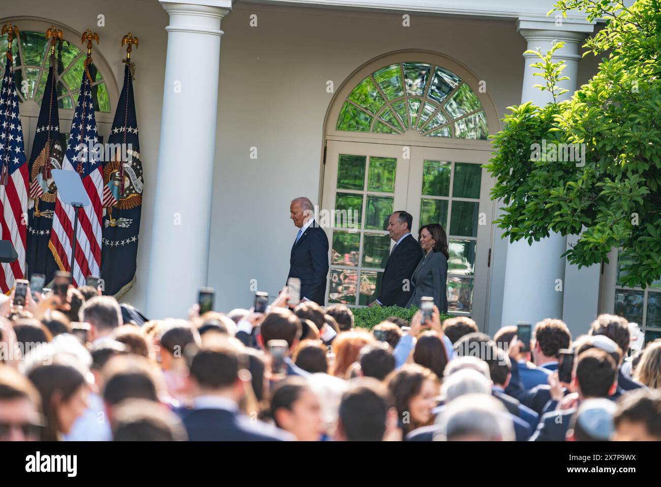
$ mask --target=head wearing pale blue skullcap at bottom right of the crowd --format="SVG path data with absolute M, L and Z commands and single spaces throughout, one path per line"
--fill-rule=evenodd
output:
M 616 409 L 615 403 L 605 398 L 583 401 L 569 423 L 567 441 L 609 441 Z

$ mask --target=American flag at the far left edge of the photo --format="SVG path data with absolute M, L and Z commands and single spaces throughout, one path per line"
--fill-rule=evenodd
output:
M 17 279 L 24 277 L 28 206 L 28 165 L 20 126 L 19 95 L 9 56 L 0 90 L 0 163 L 0 238 L 11 240 L 19 254 L 12 263 L 0 265 L 0 289 L 6 294 Z

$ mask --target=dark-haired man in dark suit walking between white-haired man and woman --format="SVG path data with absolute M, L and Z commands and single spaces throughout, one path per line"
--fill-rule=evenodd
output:
M 406 306 L 412 294 L 411 276 L 422 259 L 422 247 L 411 235 L 413 217 L 396 211 L 388 219 L 388 233 L 395 241 L 381 277 L 381 288 L 375 303 L 381 306 Z

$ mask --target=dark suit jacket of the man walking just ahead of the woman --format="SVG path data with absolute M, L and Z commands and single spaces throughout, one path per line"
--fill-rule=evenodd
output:
M 388 262 L 381 278 L 381 292 L 377 299 L 383 306 L 407 305 L 412 294 L 411 275 L 422 259 L 422 248 L 412 235 L 407 235 L 395 247 L 388 257 Z M 405 288 L 408 280 L 408 290 Z

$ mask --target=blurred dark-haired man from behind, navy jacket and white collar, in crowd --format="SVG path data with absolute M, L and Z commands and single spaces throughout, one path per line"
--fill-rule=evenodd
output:
M 253 421 L 239 411 L 244 388 L 250 386 L 239 378 L 239 369 L 244 367 L 248 367 L 248 357 L 231 345 L 203 348 L 193 357 L 190 365 L 193 409 L 182 414 L 189 441 L 293 439 L 282 429 Z

